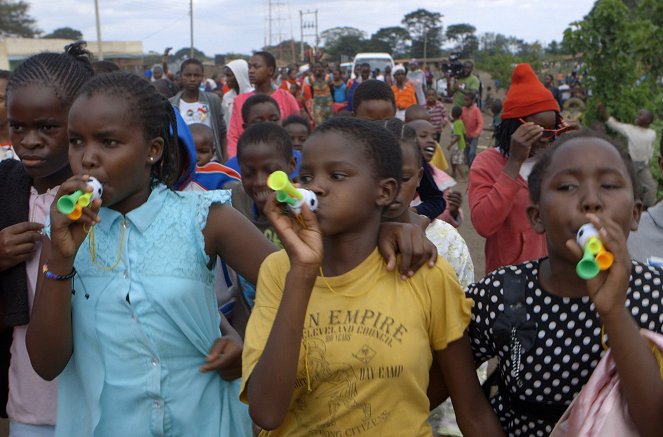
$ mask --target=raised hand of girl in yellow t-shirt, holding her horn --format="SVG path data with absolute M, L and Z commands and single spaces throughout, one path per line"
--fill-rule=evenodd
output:
M 276 201 L 276 193 L 272 193 L 265 204 L 265 215 L 288 252 L 291 265 L 315 269 L 320 267 L 323 255 L 322 232 L 318 219 L 308 205 L 302 207 L 298 218 L 284 209 Z

